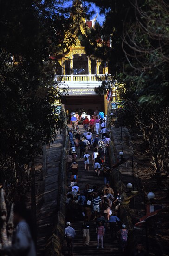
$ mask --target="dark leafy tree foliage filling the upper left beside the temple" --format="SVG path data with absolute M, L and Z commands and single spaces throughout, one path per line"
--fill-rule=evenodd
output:
M 1 10 L 0 163 L 2 183 L 8 185 L 21 179 L 42 145 L 62 126 L 54 107 L 61 97 L 54 73 L 71 18 L 70 10 L 53 0 L 2 0 Z

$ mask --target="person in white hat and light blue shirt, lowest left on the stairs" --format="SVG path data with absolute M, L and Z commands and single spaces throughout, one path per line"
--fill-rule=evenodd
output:
M 65 228 L 65 237 L 67 241 L 68 255 L 73 256 L 73 240 L 76 236 L 75 230 L 71 227 L 71 223 L 66 223 L 67 227 Z

